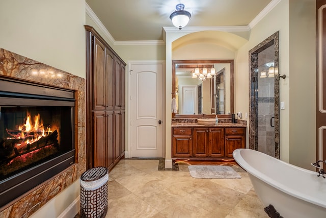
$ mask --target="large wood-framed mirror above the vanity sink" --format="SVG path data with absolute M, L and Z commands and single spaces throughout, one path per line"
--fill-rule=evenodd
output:
M 177 113 L 172 116 L 231 116 L 234 113 L 233 64 L 233 60 L 172 61 L 172 98 L 176 98 L 177 105 Z

